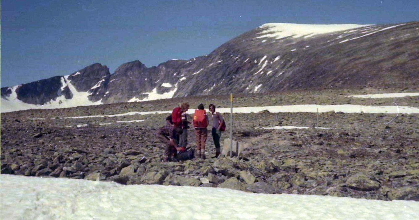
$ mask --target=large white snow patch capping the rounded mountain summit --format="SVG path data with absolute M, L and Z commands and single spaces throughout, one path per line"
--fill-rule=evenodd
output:
M 309 38 L 317 34 L 345 31 L 353 28 L 360 28 L 368 25 L 359 24 L 293 24 L 293 23 L 266 23 L 259 28 L 268 28 L 262 31 L 256 38 L 285 38 L 290 37 Z M 273 32 L 273 33 L 272 33 Z

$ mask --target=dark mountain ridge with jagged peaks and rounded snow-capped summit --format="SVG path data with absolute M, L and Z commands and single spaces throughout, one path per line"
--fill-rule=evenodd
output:
M 67 76 L 1 88 L 1 111 L 134 102 L 188 95 L 295 89 L 417 87 L 419 22 L 383 25 L 267 23 L 207 56 L 113 74 L 93 64 Z

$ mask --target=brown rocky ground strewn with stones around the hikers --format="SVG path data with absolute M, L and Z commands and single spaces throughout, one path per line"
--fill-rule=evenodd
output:
M 238 95 L 235 106 L 362 104 L 419 106 L 419 97 L 357 99 L 360 91 Z M 375 89 L 375 93 L 400 92 Z M 406 91 L 405 91 L 406 92 Z M 228 107 L 227 96 L 1 115 L 1 173 L 112 180 L 122 184 L 225 187 L 247 192 L 317 194 L 379 200 L 419 201 L 419 115 L 365 113 L 250 113 L 233 115 L 233 138 L 248 144 L 239 157 L 162 163 L 155 129 L 167 115 L 63 119 L 129 111 L 169 110 L 189 101 Z M 227 100 L 227 101 L 226 101 Z M 32 120 L 44 118 L 44 120 Z M 229 125 L 229 114 L 224 114 Z M 118 123 L 117 121 L 144 120 Z M 277 125 L 330 129 L 266 130 Z M 83 126 L 82 126 L 83 125 Z M 229 136 L 222 134 L 222 140 Z M 189 146 L 195 146 L 189 130 Z

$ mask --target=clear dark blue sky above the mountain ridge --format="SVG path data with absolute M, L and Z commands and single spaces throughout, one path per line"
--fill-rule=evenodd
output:
M 417 20 L 419 0 L 2 0 L 1 86 L 191 59 L 264 23 Z

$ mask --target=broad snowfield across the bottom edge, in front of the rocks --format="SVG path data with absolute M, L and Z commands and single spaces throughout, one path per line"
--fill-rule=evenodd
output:
M 0 219 L 419 219 L 419 202 L 0 175 Z

